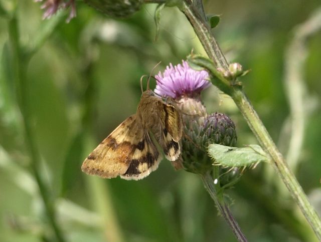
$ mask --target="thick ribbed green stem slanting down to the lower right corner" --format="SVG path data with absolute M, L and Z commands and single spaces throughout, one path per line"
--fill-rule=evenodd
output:
M 201 15 L 194 8 L 191 0 L 184 0 L 182 11 L 193 26 L 205 51 L 214 62 L 215 67 L 227 69 L 228 63 L 224 58 L 224 55 L 222 54 L 222 51 L 220 50 L 214 36 L 212 35 L 209 26 L 207 25 L 207 23 L 204 23 Z M 216 76 L 216 73 L 212 74 Z M 256 136 L 260 145 L 271 156 L 272 164 L 275 170 L 277 171 L 282 181 L 290 191 L 292 197 L 300 207 L 302 213 L 314 230 L 314 233 L 316 234 L 318 239 L 321 240 L 321 220 L 318 214 L 308 201 L 305 193 L 303 192 L 303 189 L 301 188 L 291 170 L 288 168 L 283 156 L 272 141 L 262 121 L 253 109 L 244 92 L 241 90 L 241 87 L 233 85 L 227 87 L 226 82 L 228 82 L 228 80 L 222 80 L 222 76 L 220 76 L 218 79 L 218 82 L 220 82 L 222 86 L 228 88 L 228 94 L 233 98 L 234 102 L 240 109 L 243 117 L 247 121 L 249 127 Z

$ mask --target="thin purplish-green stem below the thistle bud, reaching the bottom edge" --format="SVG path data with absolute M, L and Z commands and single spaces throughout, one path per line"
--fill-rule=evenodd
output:
M 221 212 L 224 219 L 227 221 L 227 223 L 231 227 L 237 240 L 243 241 L 243 242 L 247 241 L 240 226 L 238 225 L 237 221 L 234 219 L 228 205 L 224 201 L 222 201 L 222 199 L 219 199 L 217 197 L 213 177 L 210 175 L 210 173 L 206 173 L 204 175 L 201 175 L 201 177 L 202 177 L 202 181 L 205 185 L 206 190 L 208 191 L 208 193 L 212 197 L 213 201 L 215 202 L 217 208 Z

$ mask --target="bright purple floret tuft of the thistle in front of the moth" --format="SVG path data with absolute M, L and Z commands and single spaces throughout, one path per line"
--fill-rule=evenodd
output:
M 155 76 L 156 88 L 154 92 L 159 96 L 178 98 L 182 96 L 193 97 L 199 95 L 202 90 L 208 88 L 211 83 L 207 80 L 206 71 L 193 70 L 186 61 L 166 67 L 163 75 L 161 72 Z

